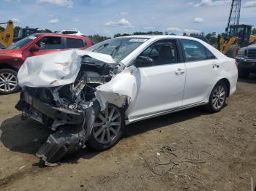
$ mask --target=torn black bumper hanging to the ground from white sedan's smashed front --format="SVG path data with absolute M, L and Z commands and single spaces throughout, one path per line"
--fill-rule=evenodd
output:
M 45 161 L 45 165 L 58 165 L 61 159 L 85 147 L 95 120 L 92 107 L 83 112 L 72 112 L 45 104 L 29 93 L 23 92 L 16 109 L 28 112 L 31 108 L 53 120 L 64 121 L 65 124 L 56 133 L 51 134 L 36 153 L 37 157 Z

